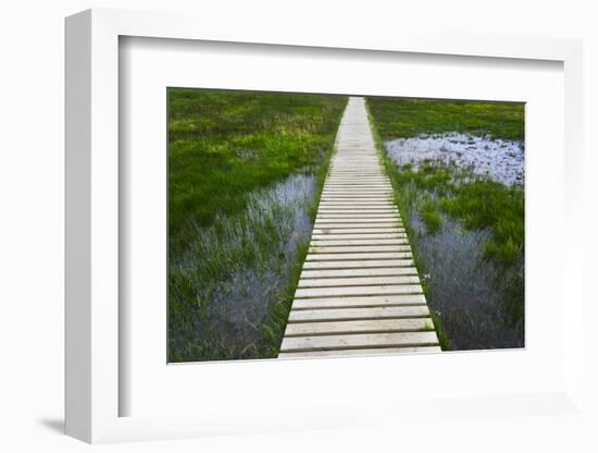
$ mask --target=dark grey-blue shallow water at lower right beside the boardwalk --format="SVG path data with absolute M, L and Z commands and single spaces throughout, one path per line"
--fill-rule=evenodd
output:
M 507 269 L 484 259 L 488 230 L 465 230 L 444 216 L 437 234 L 425 233 L 411 216 L 414 245 L 428 282 L 427 302 L 439 318 L 453 350 L 523 346 L 523 320 L 512 322 L 504 303 L 523 262 Z

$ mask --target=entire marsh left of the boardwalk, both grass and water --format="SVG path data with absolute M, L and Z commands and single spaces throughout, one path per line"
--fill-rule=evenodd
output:
M 277 355 L 346 102 L 169 89 L 171 362 Z

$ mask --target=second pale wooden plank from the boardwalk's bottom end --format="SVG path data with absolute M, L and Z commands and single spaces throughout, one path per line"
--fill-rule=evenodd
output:
M 281 345 L 281 351 L 327 351 L 381 346 L 406 347 L 435 345 L 438 345 L 436 332 L 358 333 L 329 336 L 285 336 Z

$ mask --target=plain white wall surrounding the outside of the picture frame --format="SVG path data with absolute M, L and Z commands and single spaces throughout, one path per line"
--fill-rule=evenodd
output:
M 587 292 L 597 267 L 598 13 L 593 1 L 225 1 L 21 0 L 0 12 L 0 450 L 79 451 L 89 446 L 62 436 L 63 420 L 63 19 L 84 9 L 194 11 L 235 21 L 304 23 L 306 29 L 354 25 L 458 29 L 474 33 L 584 39 Z M 232 21 L 234 22 L 234 21 Z M 342 24 L 342 25 L 340 25 Z M 594 180 L 594 181 L 590 181 Z M 598 319 L 590 307 L 585 317 Z M 588 325 L 589 326 L 589 325 Z M 587 332 L 587 401 L 596 411 L 598 374 Z M 596 354 L 594 354 L 595 356 Z M 440 378 L 441 380 L 441 378 Z M 594 384 L 591 384 L 591 382 Z M 594 412 L 596 415 L 596 412 Z M 456 420 L 429 432 L 376 428 L 109 445 L 113 451 L 597 451 L 598 418 L 504 417 Z

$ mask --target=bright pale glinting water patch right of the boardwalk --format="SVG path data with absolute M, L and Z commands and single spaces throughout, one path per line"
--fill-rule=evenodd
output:
M 524 146 L 519 140 L 491 139 L 447 133 L 385 142 L 390 159 L 414 169 L 424 161 L 440 161 L 511 186 L 524 182 Z

